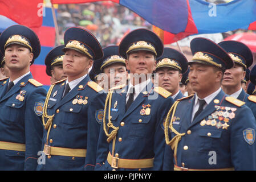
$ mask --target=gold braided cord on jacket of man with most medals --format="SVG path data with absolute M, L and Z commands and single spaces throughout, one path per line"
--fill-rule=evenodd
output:
M 178 142 L 180 142 L 181 137 L 185 135 L 185 133 L 178 133 L 178 131 L 176 131 L 173 126 L 172 126 L 172 122 L 173 122 L 173 116 L 175 114 L 178 102 L 180 101 L 175 101 L 174 104 L 172 105 L 172 107 L 170 107 L 170 110 L 167 114 L 167 117 L 165 119 L 165 126 L 164 126 L 164 135 L 165 135 L 165 142 L 166 144 L 168 144 L 172 150 L 174 151 L 174 159 L 175 159 L 175 163 L 177 165 L 177 148 L 178 148 Z M 173 111 L 173 112 L 172 112 Z M 170 113 L 172 113 L 172 118 L 170 119 Z M 169 119 L 170 119 L 170 125 L 169 125 Z M 171 131 L 173 131 L 176 136 L 173 137 L 172 140 L 169 140 L 169 133 L 168 133 L 168 129 L 170 128 Z

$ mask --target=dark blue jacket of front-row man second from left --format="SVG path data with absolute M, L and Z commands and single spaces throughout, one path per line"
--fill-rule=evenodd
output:
M 66 80 L 56 82 L 47 106 L 47 114 L 55 114 L 48 137 L 49 146 L 84 150 L 87 148 L 88 107 L 100 94 L 89 86 L 89 82 L 91 80 L 87 75 L 63 98 Z M 73 104 L 76 98 L 87 100 L 87 104 Z M 44 129 L 42 150 L 47 143 L 47 132 L 48 130 Z M 50 155 L 46 156 L 45 164 L 38 165 L 37 169 L 84 170 L 85 160 L 84 157 Z

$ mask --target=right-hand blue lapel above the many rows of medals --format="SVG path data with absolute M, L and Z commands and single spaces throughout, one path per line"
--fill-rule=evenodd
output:
M 212 114 L 216 110 L 215 106 L 217 105 L 214 103 L 214 100 L 219 100 L 221 102 L 224 96 L 225 96 L 225 93 L 221 90 L 221 92 L 218 93 L 217 96 L 213 98 L 213 100 L 209 103 L 209 105 L 207 105 L 205 109 L 202 110 L 202 112 L 196 118 L 194 118 L 194 121 L 191 123 L 190 127 L 196 125 L 198 122 L 201 122 L 202 119 Z

